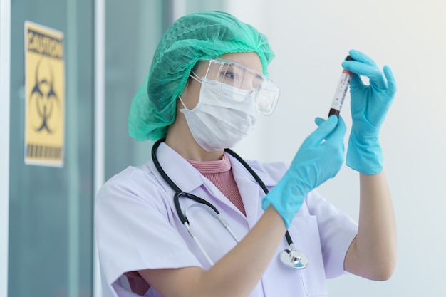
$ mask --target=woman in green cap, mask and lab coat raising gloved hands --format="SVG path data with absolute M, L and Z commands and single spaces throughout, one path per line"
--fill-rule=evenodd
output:
M 279 97 L 266 77 L 274 57 L 266 37 L 217 11 L 172 24 L 130 110 L 130 135 L 159 140 L 152 158 L 98 193 L 104 296 L 326 296 L 326 278 L 346 271 L 388 279 L 395 222 L 378 135 L 395 81 L 363 53 L 350 56 L 347 165 L 360 172 L 358 224 L 314 191 L 343 163 L 342 118 L 316 118 L 289 167 L 247 161 L 249 172 L 224 149 Z

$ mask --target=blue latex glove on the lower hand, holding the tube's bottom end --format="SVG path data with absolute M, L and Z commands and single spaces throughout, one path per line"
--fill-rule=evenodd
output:
M 319 127 L 304 140 L 289 170 L 262 201 L 263 209 L 273 204 L 287 229 L 306 194 L 334 177 L 343 163 L 346 134 L 343 119 L 332 115 L 328 120 L 316 118 L 316 124 Z

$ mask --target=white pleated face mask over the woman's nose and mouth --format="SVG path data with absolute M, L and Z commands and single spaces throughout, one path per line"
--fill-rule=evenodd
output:
M 195 141 L 207 152 L 234 147 L 249 135 L 256 123 L 253 90 L 242 90 L 202 78 L 197 106 L 180 112 Z

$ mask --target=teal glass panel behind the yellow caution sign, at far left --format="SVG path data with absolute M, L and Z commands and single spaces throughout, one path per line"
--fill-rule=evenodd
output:
M 64 33 L 64 165 L 24 165 L 24 21 Z M 91 296 L 93 0 L 11 1 L 9 297 Z

